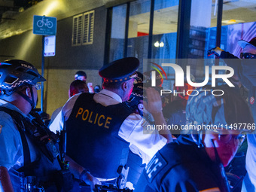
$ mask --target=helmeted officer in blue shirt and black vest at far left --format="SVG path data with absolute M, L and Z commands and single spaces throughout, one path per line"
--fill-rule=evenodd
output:
M 58 138 L 36 114 L 29 114 L 35 108 L 41 81 L 45 79 L 29 62 L 0 62 L 1 191 L 55 192 L 72 188 L 69 170 L 59 164 Z M 84 180 L 90 177 L 86 176 Z

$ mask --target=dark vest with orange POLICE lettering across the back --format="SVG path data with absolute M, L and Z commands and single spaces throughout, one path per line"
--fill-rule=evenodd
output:
M 118 131 L 132 111 L 123 103 L 105 107 L 93 96 L 81 94 L 66 121 L 66 154 L 97 178 L 116 178 L 129 152 L 129 142 Z

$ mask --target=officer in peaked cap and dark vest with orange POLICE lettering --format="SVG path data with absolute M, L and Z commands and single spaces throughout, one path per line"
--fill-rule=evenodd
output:
M 134 57 L 103 66 L 99 70 L 104 79 L 103 90 L 73 96 L 50 125 L 50 130 L 61 130 L 62 120 L 66 120 L 67 154 L 99 181 L 117 178 L 118 167 L 126 164 L 130 143 L 153 157 L 169 142 L 169 131 L 163 133 L 166 138 L 143 134 L 145 121 L 122 103 L 130 98 L 138 67 L 139 59 Z M 163 124 L 162 108 L 158 105 L 161 101 L 154 91 L 149 92 L 152 99 L 148 107 L 158 123 Z

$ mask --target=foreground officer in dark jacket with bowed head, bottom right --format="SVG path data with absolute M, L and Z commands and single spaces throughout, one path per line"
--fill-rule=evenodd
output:
M 216 90 L 223 90 L 224 95 L 191 94 L 194 96 L 190 96 L 186 108 L 190 121 L 187 130 L 190 127 L 194 132 L 179 136 L 157 152 L 135 191 L 229 191 L 224 166 L 236 154 L 245 138 L 242 131 L 250 129 L 253 118 L 236 91 L 224 86 Z M 246 126 L 233 130 L 236 123 Z M 209 128 L 204 129 L 203 125 Z

